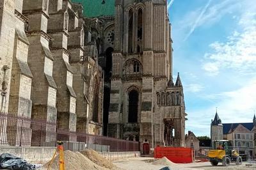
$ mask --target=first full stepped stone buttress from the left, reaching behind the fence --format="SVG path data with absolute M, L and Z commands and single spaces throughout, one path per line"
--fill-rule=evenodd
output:
M 9 112 L 13 116 L 31 118 L 32 73 L 28 66 L 29 41 L 24 31 L 28 19 L 22 15 L 23 1 L 15 2 L 15 39 L 12 60 L 12 81 L 10 83 Z M 30 146 L 30 122 L 10 120 L 7 123 L 8 142 L 12 146 Z M 20 141 L 21 140 L 21 141 Z

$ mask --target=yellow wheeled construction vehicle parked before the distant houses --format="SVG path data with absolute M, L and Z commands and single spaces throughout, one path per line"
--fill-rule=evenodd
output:
M 239 156 L 239 153 L 232 147 L 230 141 L 227 140 L 213 141 L 208 158 L 212 166 L 217 166 L 219 162 L 223 166 L 229 166 L 231 162 L 235 162 L 237 165 L 242 164 L 242 158 Z

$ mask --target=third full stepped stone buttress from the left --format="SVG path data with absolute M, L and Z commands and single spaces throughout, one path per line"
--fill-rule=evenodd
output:
M 49 4 L 51 6 L 51 3 Z M 69 63 L 68 41 L 68 4 L 61 12 L 50 12 L 47 31 L 52 37 L 53 78 L 57 91 L 57 127 L 66 132 L 76 132 L 76 93 L 73 89 L 73 71 Z M 76 141 L 75 135 L 62 140 Z

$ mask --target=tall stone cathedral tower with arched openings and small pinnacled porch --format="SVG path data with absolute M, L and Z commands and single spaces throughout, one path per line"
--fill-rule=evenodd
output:
M 185 105 L 173 83 L 171 24 L 166 0 L 115 1 L 108 135 L 184 146 Z

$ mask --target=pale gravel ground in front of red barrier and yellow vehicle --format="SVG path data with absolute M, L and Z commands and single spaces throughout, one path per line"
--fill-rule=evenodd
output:
M 145 169 L 145 170 L 157 170 L 161 169 L 162 167 L 166 167 L 164 165 L 153 165 L 152 160 L 154 158 L 147 158 L 147 157 L 140 157 L 140 158 L 131 158 L 131 159 L 123 159 L 123 160 L 116 160 L 113 162 L 117 167 L 120 167 L 122 169 L 127 170 L 137 170 L 137 169 Z M 252 167 L 246 167 L 246 164 L 248 162 L 243 162 L 242 165 L 236 166 L 236 164 L 231 164 L 228 167 L 223 167 L 221 165 L 219 166 L 211 166 L 210 162 L 200 162 L 200 163 L 191 163 L 191 164 L 173 164 L 172 166 L 169 166 L 172 170 L 177 169 L 239 169 L 239 170 L 250 170 L 255 169 L 256 170 L 256 162 L 252 164 Z

